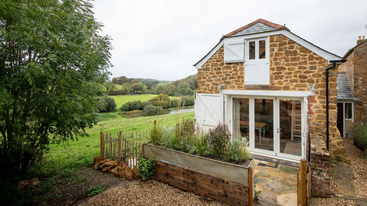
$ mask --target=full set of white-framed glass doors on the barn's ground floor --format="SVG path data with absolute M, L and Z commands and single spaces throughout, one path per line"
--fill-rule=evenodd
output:
M 235 139 L 246 137 L 252 152 L 301 159 L 301 99 L 235 96 L 232 102 L 232 134 Z

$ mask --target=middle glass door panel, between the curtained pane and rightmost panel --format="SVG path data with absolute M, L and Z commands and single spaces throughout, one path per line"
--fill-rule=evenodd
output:
M 255 149 L 274 151 L 274 100 L 254 99 Z

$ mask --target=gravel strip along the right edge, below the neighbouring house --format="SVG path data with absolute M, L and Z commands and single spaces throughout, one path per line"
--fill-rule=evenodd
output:
M 343 139 L 350 160 L 350 172 L 357 198 L 367 198 L 367 159 L 364 152 L 353 144 L 353 138 Z

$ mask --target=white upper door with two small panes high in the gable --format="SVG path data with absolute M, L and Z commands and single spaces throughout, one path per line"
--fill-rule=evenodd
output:
M 245 85 L 269 85 L 268 38 L 246 40 Z

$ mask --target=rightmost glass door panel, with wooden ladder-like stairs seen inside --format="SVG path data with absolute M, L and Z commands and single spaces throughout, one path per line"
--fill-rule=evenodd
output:
M 301 100 L 279 100 L 280 153 L 302 155 L 302 104 Z

